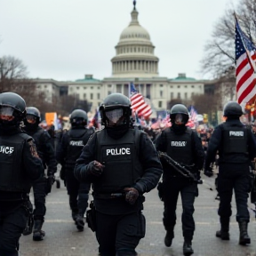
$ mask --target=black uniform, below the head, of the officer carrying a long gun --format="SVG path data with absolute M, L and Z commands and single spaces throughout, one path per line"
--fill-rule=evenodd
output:
M 196 132 L 193 132 L 189 127 L 179 134 L 175 133 L 172 127 L 166 128 L 156 138 L 156 150 L 167 153 L 179 164 L 195 165 L 190 168 L 190 171 L 194 172 L 195 175 L 198 175 L 198 171 L 203 168 L 204 149 Z M 172 166 L 164 163 L 164 160 L 162 164 L 164 168 L 164 228 L 173 232 L 176 224 L 177 200 L 180 194 L 183 208 L 181 217 L 183 236 L 192 241 L 195 231 L 193 213 L 195 211 L 195 197 L 198 196 L 197 183 L 183 177 Z

